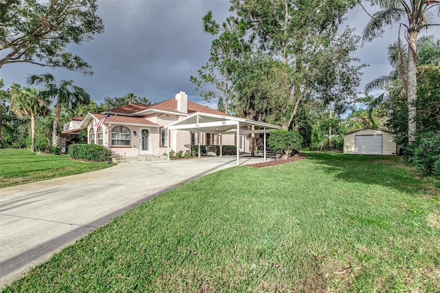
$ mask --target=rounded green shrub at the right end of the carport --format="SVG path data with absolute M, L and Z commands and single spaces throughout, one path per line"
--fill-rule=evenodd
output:
M 278 155 L 285 155 L 287 159 L 294 151 L 299 153 L 303 137 L 298 131 L 279 129 L 270 133 L 267 142 L 274 149 L 276 158 Z

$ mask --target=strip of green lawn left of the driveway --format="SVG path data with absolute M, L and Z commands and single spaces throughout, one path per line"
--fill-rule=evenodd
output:
M 66 155 L 35 155 L 29 149 L 0 149 L 0 188 L 107 168 Z

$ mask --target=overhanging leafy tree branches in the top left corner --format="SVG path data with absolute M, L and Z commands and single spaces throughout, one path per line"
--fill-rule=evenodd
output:
M 3 0 L 0 2 L 0 68 L 32 63 L 93 74 L 67 45 L 104 32 L 96 0 Z

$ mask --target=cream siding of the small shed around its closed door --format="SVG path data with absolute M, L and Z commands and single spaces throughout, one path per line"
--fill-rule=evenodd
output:
M 344 136 L 344 153 L 356 153 L 356 135 L 382 135 L 382 155 L 396 154 L 396 143 L 394 142 L 393 133 L 388 131 L 381 131 L 378 129 L 361 129 L 359 131 L 346 134 Z

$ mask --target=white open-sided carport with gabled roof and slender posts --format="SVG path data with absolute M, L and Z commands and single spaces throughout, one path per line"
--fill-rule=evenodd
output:
M 245 128 L 245 129 L 241 129 Z M 170 137 L 170 130 L 186 130 L 192 132 L 206 132 L 206 133 L 218 133 L 220 136 L 220 154 L 222 153 L 222 134 L 236 134 L 237 138 L 241 134 L 250 133 L 264 133 L 264 161 L 266 161 L 266 133 L 274 131 L 275 129 L 281 129 L 276 125 L 257 122 L 254 120 L 248 120 L 245 118 L 237 118 L 232 116 L 222 116 L 209 113 L 194 113 L 186 118 L 176 121 L 170 124 L 168 127 L 168 138 Z M 200 158 L 200 140 L 197 140 L 199 145 L 199 158 Z M 167 146 L 167 153 L 169 153 L 169 144 Z M 168 157 L 168 160 L 170 158 Z M 240 161 L 240 146 L 238 141 L 236 142 L 236 164 L 239 165 Z

